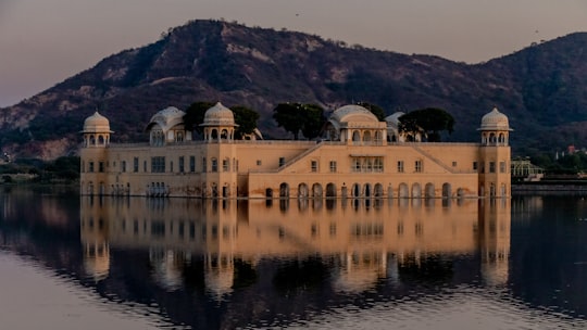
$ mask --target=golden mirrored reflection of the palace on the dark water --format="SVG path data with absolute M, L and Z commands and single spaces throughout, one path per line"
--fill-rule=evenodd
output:
M 110 249 L 149 251 L 150 276 L 168 291 L 200 263 L 207 292 L 234 288 L 235 263 L 319 256 L 339 292 L 362 292 L 436 256 L 480 255 L 488 284 L 509 276 L 510 200 L 282 200 L 83 198 L 85 269 L 109 275 Z

